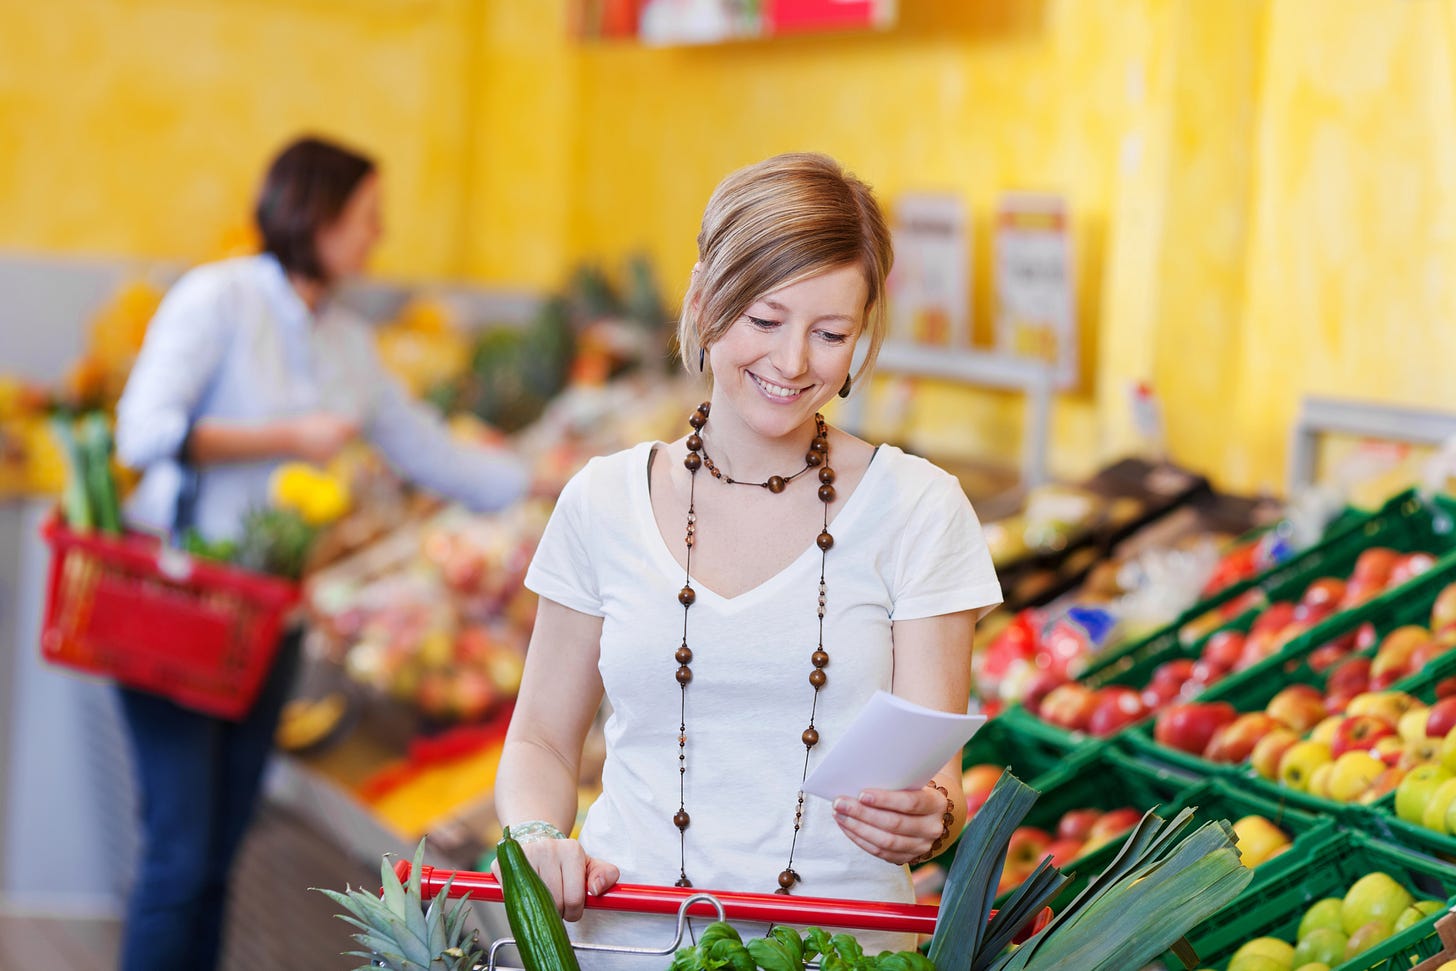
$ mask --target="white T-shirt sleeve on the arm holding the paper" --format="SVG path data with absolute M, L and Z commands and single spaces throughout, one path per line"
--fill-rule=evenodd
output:
M 891 620 L 961 610 L 978 617 L 1002 601 L 986 534 L 960 483 L 935 466 L 927 470 L 900 537 Z

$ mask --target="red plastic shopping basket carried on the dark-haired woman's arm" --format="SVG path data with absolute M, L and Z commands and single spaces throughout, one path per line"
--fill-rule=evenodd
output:
M 268 674 L 298 585 L 128 533 L 41 527 L 51 576 L 41 654 L 220 718 L 242 718 Z

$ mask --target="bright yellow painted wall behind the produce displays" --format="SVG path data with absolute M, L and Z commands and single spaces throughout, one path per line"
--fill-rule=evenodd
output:
M 374 151 L 381 275 L 545 288 L 645 250 L 670 297 L 728 169 L 821 148 L 989 214 L 1067 195 L 1085 362 L 1054 467 L 1133 444 L 1283 486 L 1302 393 L 1456 408 L 1456 0 L 901 0 L 884 35 L 578 45 L 566 0 L 51 0 L 0 12 L 0 249 L 197 261 L 303 128 Z M 1318 25 L 1318 29 L 1316 29 Z M 1010 456 L 1018 403 L 925 384 L 914 443 Z

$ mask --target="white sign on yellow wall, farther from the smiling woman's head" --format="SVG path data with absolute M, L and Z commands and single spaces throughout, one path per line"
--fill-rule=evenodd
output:
M 1060 195 L 1009 192 L 996 210 L 996 346 L 1047 361 L 1057 387 L 1077 377 L 1067 221 Z

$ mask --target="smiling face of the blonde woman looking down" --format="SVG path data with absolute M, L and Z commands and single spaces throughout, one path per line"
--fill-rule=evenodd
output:
M 754 300 L 708 349 L 713 413 L 769 438 L 812 422 L 849 376 L 868 294 L 859 266 L 840 266 Z

